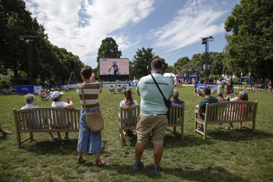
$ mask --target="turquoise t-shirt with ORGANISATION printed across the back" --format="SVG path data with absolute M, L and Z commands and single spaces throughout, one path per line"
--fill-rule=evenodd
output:
M 159 88 L 166 99 L 174 94 L 174 85 L 172 81 L 159 73 L 153 73 L 154 79 L 157 81 Z M 154 83 L 152 76 L 144 76 L 137 83 L 136 90 L 140 92 L 141 114 L 166 114 L 168 108 L 166 107 L 163 96 Z

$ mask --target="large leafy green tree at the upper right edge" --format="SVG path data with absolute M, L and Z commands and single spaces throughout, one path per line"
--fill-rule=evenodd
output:
M 232 32 L 228 40 L 231 64 L 242 72 L 262 77 L 273 76 L 273 1 L 241 0 L 227 17 L 225 29 Z

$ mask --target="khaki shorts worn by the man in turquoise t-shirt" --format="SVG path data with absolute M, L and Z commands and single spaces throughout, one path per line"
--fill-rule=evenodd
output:
M 163 145 L 163 137 L 168 126 L 166 115 L 147 115 L 140 114 L 137 118 L 136 133 L 137 142 L 146 144 L 149 142 L 151 131 L 153 132 L 151 142 L 157 145 Z

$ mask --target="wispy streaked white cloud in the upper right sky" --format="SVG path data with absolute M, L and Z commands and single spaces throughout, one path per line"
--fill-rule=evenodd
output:
M 223 33 L 223 21 L 229 12 L 224 9 L 227 3 L 230 2 L 189 0 L 170 23 L 150 30 L 148 39 L 155 40 L 154 47 L 168 52 L 201 41 L 200 37 Z

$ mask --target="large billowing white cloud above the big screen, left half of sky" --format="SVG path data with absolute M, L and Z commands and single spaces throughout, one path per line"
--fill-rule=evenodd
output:
M 101 40 L 116 29 L 146 18 L 154 11 L 153 0 L 26 0 L 27 9 L 44 25 L 52 44 L 76 54 L 85 64 L 97 56 Z M 79 15 L 80 14 L 80 15 Z M 82 17 L 80 17 L 82 16 Z M 132 43 L 128 37 L 114 35 L 119 48 Z

